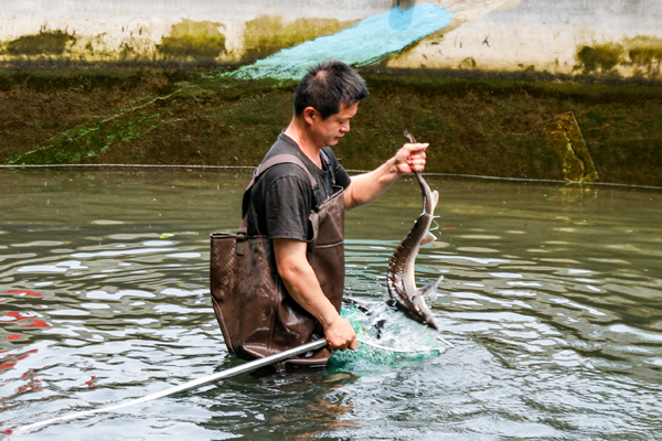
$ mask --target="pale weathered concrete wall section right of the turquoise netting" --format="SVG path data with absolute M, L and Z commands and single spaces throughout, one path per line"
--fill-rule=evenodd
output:
M 623 46 L 617 69 L 632 75 L 645 69 L 627 53 L 641 45 L 634 40 L 638 36 L 652 40 L 649 46 L 658 50 L 654 58 L 662 60 L 660 23 L 662 1 L 525 0 L 513 9 L 441 31 L 388 65 L 572 74 L 583 67 L 577 57 L 583 47 L 616 43 Z

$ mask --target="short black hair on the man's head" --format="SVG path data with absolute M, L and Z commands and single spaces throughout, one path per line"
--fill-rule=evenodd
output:
M 352 106 L 370 93 L 365 80 L 344 63 L 329 61 L 308 71 L 297 87 L 295 115 L 311 106 L 322 119 L 340 111 L 340 105 Z

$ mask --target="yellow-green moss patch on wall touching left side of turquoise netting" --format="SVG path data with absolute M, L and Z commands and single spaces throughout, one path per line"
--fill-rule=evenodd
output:
M 261 15 L 246 23 L 246 58 L 257 60 L 281 49 L 292 47 L 318 36 L 331 35 L 353 23 L 335 19 L 298 19 L 285 22 L 280 17 Z

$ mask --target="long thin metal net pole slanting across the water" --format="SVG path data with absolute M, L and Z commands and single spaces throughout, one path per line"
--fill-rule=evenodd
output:
M 306 343 L 301 346 L 292 347 L 291 349 L 279 352 L 278 354 L 269 355 L 264 358 L 254 359 L 252 362 L 247 362 L 242 365 L 231 367 L 229 369 L 225 369 L 225 370 L 222 370 L 220 373 L 216 373 L 216 374 L 203 377 L 203 378 L 194 379 L 194 380 L 184 383 L 182 385 L 174 386 L 174 387 L 171 387 L 166 390 L 161 390 L 160 392 L 150 394 L 142 398 L 137 398 L 137 399 L 132 399 L 129 401 L 120 402 L 118 405 L 104 407 L 102 409 L 85 410 L 82 412 L 74 412 L 74 413 L 65 415 L 63 417 L 52 418 L 50 420 L 34 422 L 32 424 L 20 427 L 17 429 L 17 431 L 30 430 L 30 429 L 38 428 L 40 426 L 51 424 L 53 422 L 73 420 L 73 419 L 81 418 L 81 417 L 87 417 L 87 416 L 94 415 L 94 413 L 110 412 L 113 410 L 121 409 L 124 407 L 139 405 L 141 402 L 151 401 L 157 398 L 168 397 L 169 395 L 195 389 L 201 386 L 209 385 L 210 383 L 218 381 L 221 379 L 234 377 L 234 376 L 237 376 L 241 374 L 246 374 L 246 373 L 259 369 L 260 367 L 273 365 L 274 363 L 284 362 L 288 358 L 305 354 L 309 351 L 321 349 L 322 347 L 324 347 L 327 345 L 328 345 L 327 340 L 321 338 L 321 340 L 318 340 L 318 341 L 314 341 L 311 343 Z

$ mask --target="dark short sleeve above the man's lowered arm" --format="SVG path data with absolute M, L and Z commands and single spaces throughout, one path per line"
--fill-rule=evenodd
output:
M 273 239 L 310 240 L 308 217 L 312 211 L 310 184 L 296 176 L 275 181 L 266 194 L 267 230 Z

